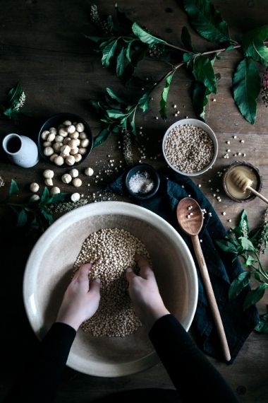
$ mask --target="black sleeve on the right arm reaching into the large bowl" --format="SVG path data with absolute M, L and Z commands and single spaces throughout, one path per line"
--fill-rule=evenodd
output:
M 239 402 L 176 317 L 161 317 L 149 337 L 183 402 Z

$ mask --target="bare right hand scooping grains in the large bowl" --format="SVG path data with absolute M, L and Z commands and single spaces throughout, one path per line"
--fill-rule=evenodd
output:
M 127 269 L 128 293 L 135 313 L 150 330 L 159 317 L 169 314 L 169 310 L 166 309 L 160 296 L 149 262 L 141 255 L 135 255 L 135 261 L 140 268 L 140 274 L 137 275 L 132 269 Z

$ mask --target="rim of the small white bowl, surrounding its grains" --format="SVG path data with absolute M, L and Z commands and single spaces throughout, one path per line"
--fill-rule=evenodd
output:
M 213 144 L 214 144 L 214 156 L 212 158 L 212 160 L 210 161 L 209 165 L 207 165 L 205 168 L 203 168 L 202 170 L 198 171 L 198 172 L 193 172 L 193 173 L 185 173 L 181 170 L 178 170 L 178 168 L 174 167 L 173 165 L 171 165 L 171 163 L 169 162 L 168 158 L 166 158 L 166 153 L 164 150 L 164 144 L 166 141 L 166 137 L 169 135 L 169 132 L 174 129 L 174 127 L 176 126 L 181 126 L 183 124 L 193 124 L 193 126 L 197 126 L 197 127 L 201 127 L 201 129 L 204 129 L 205 132 L 207 132 L 207 134 L 209 135 L 210 139 L 212 139 Z M 187 175 L 187 176 L 197 176 L 197 175 L 202 175 L 202 173 L 207 172 L 207 170 L 209 170 L 210 168 L 212 168 L 212 165 L 214 165 L 214 162 L 216 161 L 216 158 L 218 156 L 218 140 L 216 137 L 216 134 L 214 133 L 214 131 L 212 130 L 211 127 L 209 127 L 209 125 L 205 122 L 202 122 L 202 120 L 199 119 L 193 119 L 193 118 L 187 118 L 187 119 L 181 119 L 181 120 L 177 120 L 176 122 L 174 122 L 173 124 L 171 124 L 171 126 L 166 129 L 166 132 L 164 134 L 163 137 L 163 141 L 162 141 L 162 153 L 163 156 L 166 160 L 166 163 L 170 166 L 170 168 L 172 168 L 176 173 L 181 173 L 181 175 Z

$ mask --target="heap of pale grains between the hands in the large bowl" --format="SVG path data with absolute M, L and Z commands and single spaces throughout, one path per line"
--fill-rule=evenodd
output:
M 91 233 L 83 242 L 75 260 L 73 274 L 81 264 L 92 263 L 90 280 L 101 279 L 101 299 L 97 313 L 83 322 L 85 332 L 95 337 L 125 337 L 141 322 L 128 295 L 126 269 L 136 268 L 138 253 L 150 261 L 145 245 L 121 228 L 104 228 Z

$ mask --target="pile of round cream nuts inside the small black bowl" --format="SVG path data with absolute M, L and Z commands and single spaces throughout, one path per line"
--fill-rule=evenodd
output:
M 41 139 L 44 140 L 44 156 L 59 166 L 64 163 L 66 165 L 79 163 L 90 146 L 90 139 L 84 130 L 85 124 L 71 120 L 65 120 L 57 128 L 50 127 L 49 130 L 44 130 L 41 134 Z

